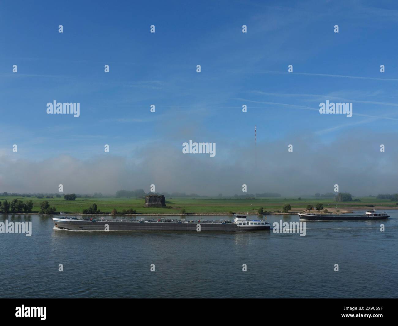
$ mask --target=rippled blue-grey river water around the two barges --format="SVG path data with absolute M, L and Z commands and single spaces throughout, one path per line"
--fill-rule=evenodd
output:
M 48 216 L 0 215 L 32 223 L 31 236 L 0 234 L 0 297 L 398 297 L 398 211 L 387 212 L 307 221 L 305 236 L 272 230 L 298 215 L 269 215 L 271 230 L 255 232 L 67 231 Z

